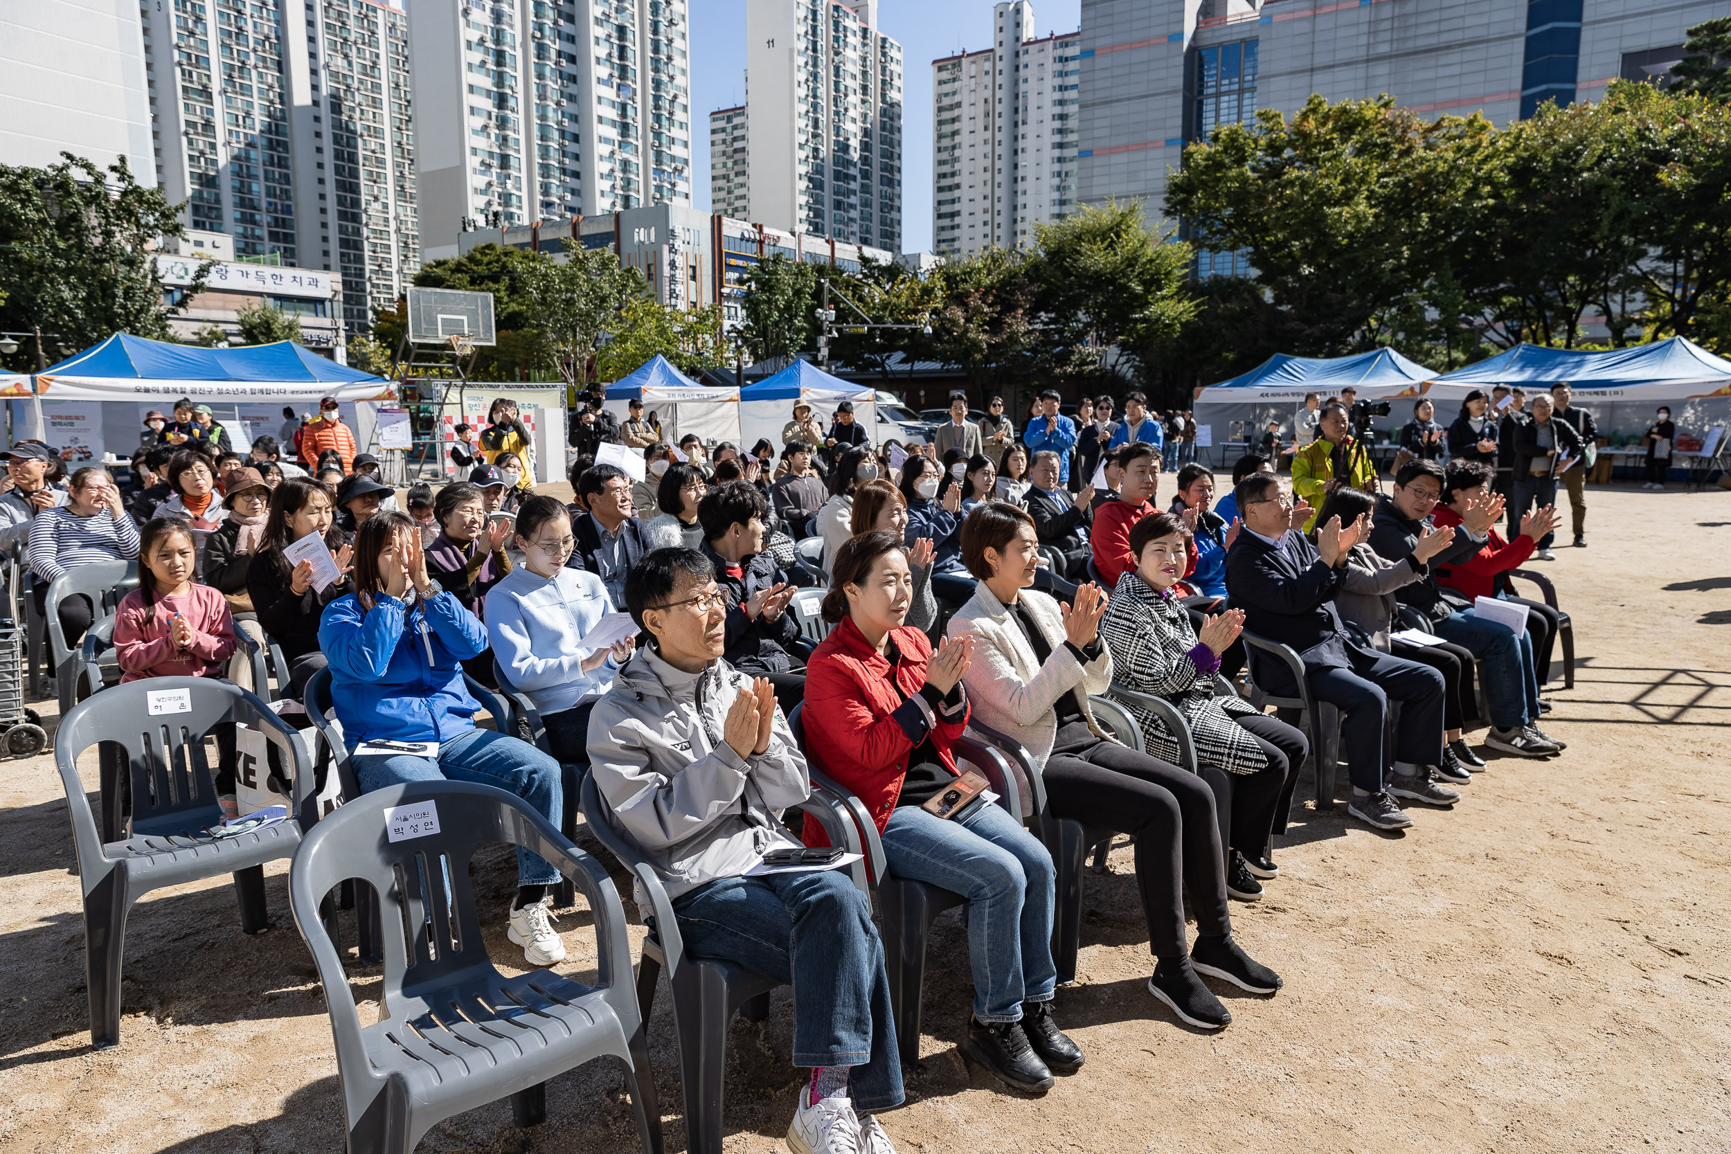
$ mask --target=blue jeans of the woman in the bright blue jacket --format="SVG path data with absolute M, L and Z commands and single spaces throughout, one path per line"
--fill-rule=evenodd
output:
M 516 737 L 473 728 L 440 746 L 438 758 L 402 753 L 388 758 L 362 754 L 353 758 L 353 763 L 355 780 L 364 794 L 403 782 L 473 782 L 523 798 L 531 810 L 552 822 L 554 829 L 559 827 L 563 813 L 559 763 Z M 557 881 L 559 870 L 545 858 L 518 846 L 519 886 L 550 886 Z

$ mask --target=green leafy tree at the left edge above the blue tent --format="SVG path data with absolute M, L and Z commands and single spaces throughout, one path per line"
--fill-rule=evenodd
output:
M 0 164 L 0 329 L 40 327 L 74 348 L 114 332 L 173 339 L 156 246 L 185 235 L 180 206 L 140 185 L 125 157 L 102 170 L 61 156 L 48 168 Z M 203 272 L 189 296 L 201 285 Z M 16 358 L 35 367 L 35 344 Z

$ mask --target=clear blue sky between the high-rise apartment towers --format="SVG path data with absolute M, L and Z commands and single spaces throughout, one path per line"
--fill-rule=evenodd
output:
M 902 247 L 931 247 L 931 62 L 992 40 L 992 0 L 878 0 L 902 42 Z M 1039 35 L 1075 31 L 1082 0 L 1033 0 Z M 746 0 L 689 0 L 694 204 L 710 208 L 710 112 L 746 95 Z M 775 221 L 765 221 L 775 223 Z

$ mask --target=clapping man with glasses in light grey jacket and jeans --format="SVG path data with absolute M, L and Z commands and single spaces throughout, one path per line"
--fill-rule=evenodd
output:
M 694 548 L 632 566 L 637 649 L 589 720 L 601 820 L 666 888 L 685 950 L 793 984 L 793 1062 L 812 1067 L 788 1145 L 891 1151 L 869 1112 L 900 1106 L 890 979 L 866 896 L 838 870 L 762 872 L 798 848 L 777 813 L 810 796 L 767 678 L 722 661 L 727 597 Z M 753 872 L 756 870 L 756 872 Z

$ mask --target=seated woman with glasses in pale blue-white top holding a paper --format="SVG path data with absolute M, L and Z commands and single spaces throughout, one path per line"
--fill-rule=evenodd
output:
M 486 638 L 509 687 L 540 711 L 552 756 L 589 765 L 589 713 L 632 656 L 632 638 L 583 644 L 613 600 L 599 576 L 564 567 L 576 538 L 561 502 L 524 500 L 516 533 L 523 564 L 486 592 Z

